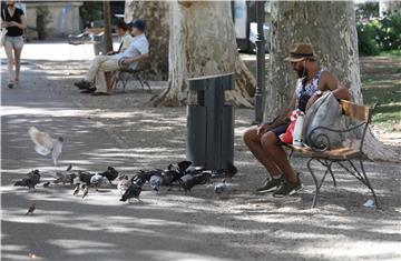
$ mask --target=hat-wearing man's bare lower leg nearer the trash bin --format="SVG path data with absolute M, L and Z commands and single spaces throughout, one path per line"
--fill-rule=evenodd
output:
M 261 137 L 256 133 L 257 127 L 251 127 L 244 131 L 243 139 L 255 158 L 266 168 L 270 174 L 280 175 L 282 171 L 274 163 L 270 154 L 263 149 Z

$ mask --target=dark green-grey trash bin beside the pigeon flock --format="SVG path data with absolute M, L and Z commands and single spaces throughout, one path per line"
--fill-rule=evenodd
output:
M 234 89 L 234 73 L 189 79 L 197 97 L 187 108 L 186 158 L 194 165 L 225 170 L 234 163 L 234 107 L 224 92 Z

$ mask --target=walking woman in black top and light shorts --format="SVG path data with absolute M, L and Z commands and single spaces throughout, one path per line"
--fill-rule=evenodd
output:
M 18 86 L 20 72 L 20 59 L 23 47 L 23 30 L 27 28 L 27 19 L 21 9 L 16 8 L 14 0 L 6 1 L 6 8 L 1 9 L 1 27 L 7 28 L 4 49 L 8 60 L 9 83 L 12 89 Z M 16 64 L 16 71 L 13 66 Z

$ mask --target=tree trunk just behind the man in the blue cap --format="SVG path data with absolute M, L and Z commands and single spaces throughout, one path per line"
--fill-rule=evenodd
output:
M 149 41 L 149 59 L 144 61 L 146 78 L 164 80 L 168 78 L 168 2 L 126 1 L 125 20 L 143 19 L 146 21 L 145 34 Z

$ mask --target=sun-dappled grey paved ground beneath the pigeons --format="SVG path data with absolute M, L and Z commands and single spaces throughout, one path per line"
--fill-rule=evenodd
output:
M 32 59 L 22 67 L 19 89 L 4 88 L 2 79 L 2 260 L 29 260 L 29 253 L 50 261 L 401 259 L 399 164 L 368 163 L 384 211 L 363 208 L 370 194 L 348 175 L 339 177 L 339 189 L 329 181 L 319 208 L 309 209 L 311 179 L 305 161 L 296 158 L 296 170 L 305 173 L 300 195 L 284 201 L 256 195 L 265 174 L 241 141 L 251 110 L 236 111 L 239 174 L 222 199 L 212 184 L 195 188 L 190 197 L 156 195 L 145 185 L 144 203 L 131 205 L 118 201 L 115 185 L 91 191 L 86 200 L 72 197 L 70 187 L 39 185 L 31 193 L 12 187 L 35 168 L 50 173 L 68 163 L 91 171 L 114 165 L 133 174 L 185 157 L 185 108 L 148 107 L 150 96 L 140 91 L 78 94 L 71 82 L 86 66 Z M 27 134 L 31 126 L 65 137 L 58 168 L 35 152 Z M 37 211 L 27 217 L 31 202 Z

